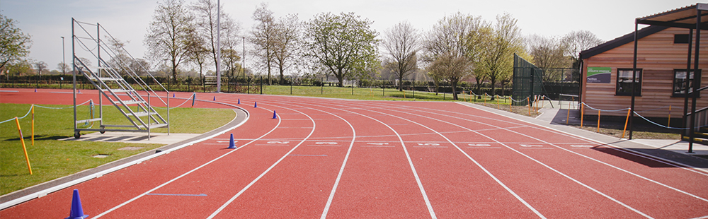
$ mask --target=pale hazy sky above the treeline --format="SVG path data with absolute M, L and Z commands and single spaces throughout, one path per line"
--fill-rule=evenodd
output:
M 196 0 L 185 1 L 191 4 Z M 379 32 L 379 38 L 387 28 L 402 21 L 427 32 L 441 18 L 460 12 L 481 16 L 489 22 L 498 15 L 510 13 L 518 20 L 523 35 L 560 37 L 571 31 L 588 30 L 607 41 L 634 31 L 634 18 L 690 6 L 697 1 L 221 0 L 222 13 L 239 22 L 241 34 L 245 35 L 253 26 L 253 11 L 261 3 L 268 4 L 275 17 L 293 13 L 303 21 L 311 20 L 319 13 L 353 12 L 372 20 L 372 28 Z M 157 4 L 157 0 L 0 0 L 0 13 L 16 20 L 16 26 L 31 35 L 33 43 L 29 58 L 45 61 L 49 69 L 56 69 L 62 61 L 61 37 L 66 38 L 65 54 L 68 62 L 71 61 L 72 18 L 85 23 L 100 23 L 113 37 L 127 42 L 126 49 L 133 57 L 144 57 L 147 52 L 144 35 Z M 249 47 L 248 42 L 246 47 Z M 246 61 L 248 68 L 252 65 L 248 55 Z

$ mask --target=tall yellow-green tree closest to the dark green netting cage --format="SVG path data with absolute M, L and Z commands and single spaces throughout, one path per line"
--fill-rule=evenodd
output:
M 513 54 L 523 53 L 521 30 L 510 14 L 496 16 L 491 35 L 486 37 L 485 48 L 476 71 L 481 71 L 491 82 L 491 100 L 496 95 L 496 82 L 509 78 L 513 73 Z

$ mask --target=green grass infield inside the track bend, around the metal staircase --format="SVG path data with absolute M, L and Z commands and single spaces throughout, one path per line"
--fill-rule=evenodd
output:
M 64 105 L 43 106 L 68 107 Z M 5 121 L 13 117 L 22 117 L 29 109 L 30 105 L 26 104 L 0 104 L 0 119 Z M 104 106 L 103 109 L 105 110 L 103 118 L 105 122 L 114 124 L 125 121 L 125 117 L 117 114 L 115 107 Z M 158 109 L 158 112 L 166 114 L 166 109 Z M 89 107 L 79 107 L 77 114 L 79 119 L 88 119 Z M 232 109 L 176 108 L 171 109 L 170 114 L 170 131 L 172 133 L 192 134 L 201 134 L 216 129 L 227 124 L 236 116 Z M 58 139 L 62 138 L 73 138 L 73 118 L 72 108 L 45 109 L 35 107 L 34 146 L 31 141 L 31 115 L 19 120 L 32 165 L 33 174 L 31 175 L 25 162 L 16 122 L 12 120 L 0 124 L 0 195 L 163 146 L 144 143 L 59 141 Z M 98 124 L 93 125 L 94 127 L 98 126 Z M 166 132 L 166 129 L 156 130 Z M 118 150 L 118 148 L 124 147 L 142 147 L 142 149 Z M 110 156 L 93 158 L 93 155 L 97 154 Z

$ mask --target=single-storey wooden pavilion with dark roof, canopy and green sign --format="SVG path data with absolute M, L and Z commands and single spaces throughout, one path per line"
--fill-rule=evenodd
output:
M 704 5 L 704 4 L 699 4 Z M 687 6 L 692 9 L 697 7 Z M 675 11 L 687 10 L 678 8 L 673 11 L 660 13 L 645 18 L 654 18 L 666 14 L 676 15 Z M 700 10 L 700 9 L 698 9 Z M 696 18 L 693 9 L 692 18 Z M 708 13 L 708 12 L 707 12 Z M 642 18 L 637 18 L 640 20 Z M 668 18 L 667 18 L 668 19 Z M 676 19 L 676 18 L 671 18 Z M 708 20 L 708 19 L 707 19 Z M 700 22 L 700 21 L 699 21 Z M 695 26 L 695 21 L 694 24 Z M 686 25 L 687 26 L 687 25 Z M 708 25 L 707 25 L 708 26 Z M 636 81 L 634 110 L 644 117 L 666 118 L 671 108 L 671 118 L 681 118 L 684 115 L 683 107 L 686 93 L 686 69 L 690 76 L 695 69 L 695 57 L 689 56 L 690 31 L 689 28 L 676 28 L 664 25 L 650 25 L 636 31 Z M 697 33 L 692 32 L 695 40 Z M 617 37 L 602 45 L 581 52 L 582 60 L 582 100 L 590 107 L 598 109 L 626 109 L 632 100 L 632 69 L 634 67 L 634 37 L 635 32 Z M 699 88 L 708 85 L 702 80 L 701 69 L 708 67 L 708 30 L 700 31 L 699 50 L 700 61 L 695 77 L 690 79 L 699 82 Z M 695 47 L 695 41 L 691 42 Z M 689 61 L 690 60 L 690 61 Z M 692 85 L 690 85 L 690 89 Z M 700 93 L 699 93 L 700 95 Z M 704 97 L 705 96 L 705 97 Z M 708 107 L 706 94 L 697 98 L 697 109 Z M 690 112 L 690 104 L 688 105 Z M 586 108 L 587 109 L 587 108 Z M 598 111 L 585 110 L 585 114 L 597 115 Z M 622 112 L 602 112 L 602 116 L 627 115 Z M 681 124 L 675 124 L 681 126 Z M 672 124 L 673 126 L 673 124 Z

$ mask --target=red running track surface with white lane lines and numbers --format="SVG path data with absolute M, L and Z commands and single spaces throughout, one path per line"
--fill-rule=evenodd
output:
M 56 93 L 70 90 L 19 91 L 0 92 L 0 102 L 72 104 L 71 94 Z M 77 102 L 98 96 L 84 92 Z M 458 103 L 197 97 L 240 99 L 251 118 L 222 136 L 4 209 L 0 218 L 66 218 L 73 189 L 91 218 L 708 216 L 705 172 Z M 229 134 L 238 149 L 217 143 Z

